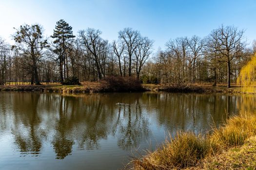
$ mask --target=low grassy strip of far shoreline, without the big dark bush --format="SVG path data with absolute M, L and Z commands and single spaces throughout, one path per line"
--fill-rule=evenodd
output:
M 0 85 L 0 91 L 37 91 L 49 93 L 104 93 L 104 92 L 170 92 L 170 93 L 227 93 L 227 94 L 256 94 L 256 92 L 244 92 L 241 86 L 227 88 L 225 85 L 189 85 L 183 87 L 171 85 L 141 84 L 127 90 L 116 90 L 109 85 L 100 83 L 86 83 L 84 85 Z

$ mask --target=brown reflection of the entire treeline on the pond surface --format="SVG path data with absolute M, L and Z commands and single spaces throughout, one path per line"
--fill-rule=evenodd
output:
M 51 143 L 56 158 L 64 159 L 74 150 L 100 149 L 109 137 L 123 150 L 138 147 L 156 128 L 205 132 L 213 120 L 221 124 L 225 112 L 253 110 L 255 102 L 252 95 L 224 94 L 1 93 L 0 133 L 11 131 L 24 155 L 39 155 Z

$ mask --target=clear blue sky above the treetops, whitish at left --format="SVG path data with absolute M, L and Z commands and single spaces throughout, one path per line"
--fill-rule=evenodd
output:
M 132 27 L 155 40 L 154 49 L 179 36 L 204 37 L 221 24 L 245 29 L 256 39 L 256 0 L 0 0 L 0 36 L 9 42 L 13 27 L 39 23 L 47 36 L 59 19 L 76 35 L 88 27 L 110 42 Z

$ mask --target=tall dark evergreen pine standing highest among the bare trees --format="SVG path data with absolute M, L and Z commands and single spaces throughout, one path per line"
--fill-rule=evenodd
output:
M 57 21 L 57 25 L 53 30 L 52 38 L 56 44 L 54 52 L 58 55 L 59 61 L 59 73 L 60 73 L 60 81 L 63 82 L 65 78 L 68 78 L 68 59 L 67 59 L 67 47 L 73 41 L 75 35 L 73 35 L 72 27 L 64 21 L 60 19 Z M 63 66 L 64 66 L 64 77 L 63 77 Z

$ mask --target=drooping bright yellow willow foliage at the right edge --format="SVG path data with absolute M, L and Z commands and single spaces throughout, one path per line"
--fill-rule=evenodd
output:
M 256 54 L 241 69 L 236 83 L 243 86 L 242 91 L 244 92 L 256 92 Z

